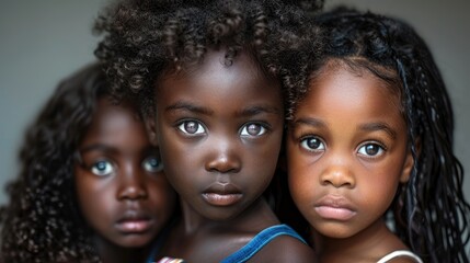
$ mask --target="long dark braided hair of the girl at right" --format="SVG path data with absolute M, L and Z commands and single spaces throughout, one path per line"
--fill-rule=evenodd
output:
M 446 85 L 425 42 L 403 21 L 340 7 L 316 18 L 324 30 L 321 53 L 302 48 L 290 68 L 289 113 L 329 61 L 366 69 L 401 98 L 415 160 L 408 184 L 390 207 L 396 233 L 425 262 L 469 262 L 470 206 L 462 194 L 463 170 L 454 155 L 454 116 Z M 291 116 L 290 115 L 290 116 Z

